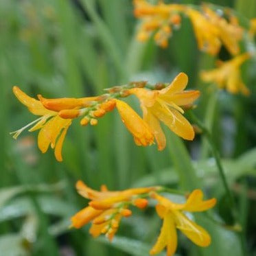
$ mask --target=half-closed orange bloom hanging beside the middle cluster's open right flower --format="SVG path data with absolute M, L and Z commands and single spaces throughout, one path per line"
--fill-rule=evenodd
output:
M 154 142 L 154 136 L 148 124 L 139 117 L 126 102 L 115 100 L 117 110 L 126 128 L 132 133 L 137 146 L 148 146 Z

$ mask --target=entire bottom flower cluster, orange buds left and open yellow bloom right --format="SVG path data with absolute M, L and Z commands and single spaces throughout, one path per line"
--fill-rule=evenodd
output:
M 71 227 L 79 229 L 91 222 L 89 233 L 93 237 L 106 234 L 112 240 L 122 217 L 129 217 L 132 211 L 130 206 L 143 209 L 148 206 L 148 199 L 156 200 L 156 213 L 163 219 L 160 235 L 150 251 L 155 255 L 167 248 L 167 256 L 175 253 L 177 247 L 176 229 L 181 230 L 192 242 L 198 246 L 209 246 L 211 237 L 205 229 L 190 220 L 183 211 L 206 211 L 216 205 L 216 199 L 202 200 L 200 189 L 195 189 L 183 204 L 172 202 L 159 193 L 165 191 L 163 187 L 140 187 L 124 191 L 108 191 L 102 186 L 101 191 L 87 187 L 82 181 L 76 184 L 78 193 L 91 200 L 89 206 L 71 218 Z

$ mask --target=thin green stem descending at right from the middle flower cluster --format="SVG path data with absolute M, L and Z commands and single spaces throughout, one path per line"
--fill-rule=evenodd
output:
M 226 195 L 229 197 L 229 204 L 230 204 L 231 208 L 234 209 L 235 201 L 233 198 L 233 194 L 231 193 L 231 190 L 229 189 L 229 185 L 226 181 L 226 176 L 224 174 L 224 168 L 223 168 L 221 160 L 220 160 L 220 154 L 215 146 L 211 132 L 209 132 L 208 128 L 204 124 L 202 124 L 202 122 L 198 119 L 198 117 L 196 117 L 196 115 L 194 115 L 194 113 L 192 113 L 191 111 L 189 111 L 189 116 L 190 116 L 191 120 L 194 121 L 194 123 L 202 130 L 203 134 L 209 141 L 213 157 L 216 160 L 216 165 L 218 167 L 220 178 L 222 180 L 224 189 L 226 191 Z

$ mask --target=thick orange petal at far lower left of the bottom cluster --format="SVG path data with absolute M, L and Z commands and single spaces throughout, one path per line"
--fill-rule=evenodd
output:
M 100 216 L 101 213 L 102 211 L 95 210 L 93 207 L 85 207 L 71 218 L 72 226 L 79 229 L 97 216 Z

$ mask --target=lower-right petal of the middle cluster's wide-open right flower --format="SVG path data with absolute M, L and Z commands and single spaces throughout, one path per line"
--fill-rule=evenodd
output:
M 178 110 L 163 108 L 159 103 L 156 102 L 153 108 L 149 111 L 152 114 L 163 121 L 163 123 L 170 128 L 176 135 L 182 137 L 183 139 L 193 140 L 195 132 L 189 121 L 178 112 Z

